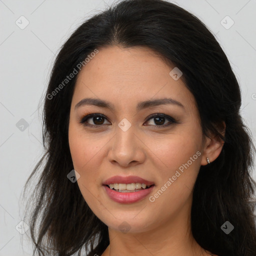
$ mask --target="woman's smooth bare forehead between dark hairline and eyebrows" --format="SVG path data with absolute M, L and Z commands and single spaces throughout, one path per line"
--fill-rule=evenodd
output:
M 194 107 L 193 95 L 182 79 L 175 80 L 169 74 L 174 67 L 147 47 L 98 49 L 78 73 L 74 104 L 84 97 L 105 99 L 117 107 L 171 97 L 185 107 Z

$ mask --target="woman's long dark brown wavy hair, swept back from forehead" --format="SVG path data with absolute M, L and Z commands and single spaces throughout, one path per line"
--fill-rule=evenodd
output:
M 33 255 L 80 255 L 83 249 L 87 255 L 101 255 L 109 244 L 107 226 L 90 210 L 77 182 L 67 178 L 73 169 L 68 123 L 77 74 L 52 93 L 88 54 L 108 45 L 149 47 L 182 71 L 196 100 L 203 134 L 224 140 L 220 155 L 200 167 L 194 184 L 193 237 L 219 256 L 255 256 L 256 183 L 251 178 L 255 148 L 239 112 L 238 82 L 209 29 L 193 14 L 164 0 L 123 0 L 110 6 L 82 23 L 57 54 L 44 97 L 45 152 L 24 189 L 37 174 L 26 207 L 29 218 L 24 217 Z M 224 136 L 218 128 L 221 121 L 226 124 Z M 229 234 L 220 228 L 225 221 L 234 226 Z

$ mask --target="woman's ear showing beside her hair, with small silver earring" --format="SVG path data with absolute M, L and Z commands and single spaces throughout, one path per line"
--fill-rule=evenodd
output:
M 222 136 L 225 135 L 225 128 L 226 124 L 225 122 L 221 122 L 220 125 L 218 125 L 218 130 L 222 134 Z M 205 136 L 204 146 L 202 150 L 202 158 L 201 158 L 201 165 L 208 164 L 207 157 L 209 158 L 209 161 L 214 161 L 220 154 L 222 147 L 223 147 L 224 141 L 216 135 L 212 135 L 210 138 Z

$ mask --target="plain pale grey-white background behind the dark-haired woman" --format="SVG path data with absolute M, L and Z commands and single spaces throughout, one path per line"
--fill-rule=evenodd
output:
M 0 0 L 0 256 L 32 254 L 15 226 L 22 220 L 24 183 L 42 155 L 40 100 L 55 54 L 79 24 L 113 2 Z M 256 1 L 172 2 L 195 14 L 216 35 L 241 86 L 241 115 L 255 141 Z M 22 15 L 29 21 L 24 29 L 15 23 Z M 221 24 L 226 15 L 234 21 L 229 29 Z M 21 118 L 28 123 L 23 131 L 16 127 Z

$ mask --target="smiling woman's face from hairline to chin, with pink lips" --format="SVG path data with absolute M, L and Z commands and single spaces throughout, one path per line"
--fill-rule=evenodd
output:
M 190 215 L 204 145 L 195 100 L 173 68 L 148 48 L 111 46 L 78 74 L 70 152 L 82 196 L 109 228 L 149 231 Z M 105 182 L 113 176 L 121 177 Z M 135 192 L 105 185 L 132 191 L 141 179 L 153 185 Z

